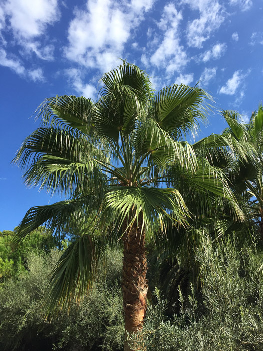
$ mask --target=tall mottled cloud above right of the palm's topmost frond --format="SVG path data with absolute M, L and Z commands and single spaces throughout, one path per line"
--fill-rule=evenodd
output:
M 157 50 L 151 55 L 150 62 L 156 67 L 163 67 L 168 75 L 180 71 L 189 61 L 182 45 L 180 45 L 179 23 L 183 19 L 173 4 L 166 5 L 159 22 L 164 32 Z

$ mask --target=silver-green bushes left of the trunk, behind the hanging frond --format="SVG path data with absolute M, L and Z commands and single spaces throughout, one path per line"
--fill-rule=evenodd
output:
M 80 306 L 61 310 L 46 321 L 42 310 L 48 275 L 60 257 L 31 252 L 27 274 L 6 282 L 0 291 L 0 349 L 5 351 L 121 350 L 124 326 L 120 293 L 121 255 L 108 251 L 97 283 Z

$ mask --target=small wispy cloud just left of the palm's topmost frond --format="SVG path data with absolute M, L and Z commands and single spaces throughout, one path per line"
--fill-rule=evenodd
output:
M 82 72 L 76 68 L 70 68 L 65 71 L 66 76 L 70 82 L 70 85 L 73 86 L 76 92 L 79 95 L 85 96 L 95 100 L 97 97 L 97 89 L 92 84 L 85 84 L 82 81 Z

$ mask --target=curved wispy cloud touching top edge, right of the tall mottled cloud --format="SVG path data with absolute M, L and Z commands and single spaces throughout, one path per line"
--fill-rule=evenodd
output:
M 189 21 L 187 25 L 187 40 L 189 46 L 202 48 L 211 33 L 224 22 L 224 7 L 217 0 L 182 0 L 182 3 L 199 10 L 200 17 Z

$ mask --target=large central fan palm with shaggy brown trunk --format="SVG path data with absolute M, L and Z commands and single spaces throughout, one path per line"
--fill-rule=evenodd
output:
M 26 138 L 15 162 L 26 169 L 27 185 L 69 200 L 31 208 L 18 227 L 17 241 L 44 223 L 55 236 L 67 226 L 84 228 L 54 270 L 50 306 L 69 303 L 90 286 L 103 259 L 96 228 L 111 245 L 122 241 L 127 335 L 141 328 L 146 311 L 146 232 L 158 228 L 165 236 L 168 220 L 179 228 L 190 216 L 176 189 L 177 165 L 192 189 L 226 197 L 240 213 L 220 170 L 197 159 L 194 148 L 182 141 L 205 119 L 209 96 L 204 90 L 172 85 L 155 95 L 145 72 L 126 62 L 101 81 L 95 103 L 56 96 L 37 109 L 42 126 Z M 210 137 L 210 143 L 215 139 Z M 130 349 L 127 340 L 124 349 Z

